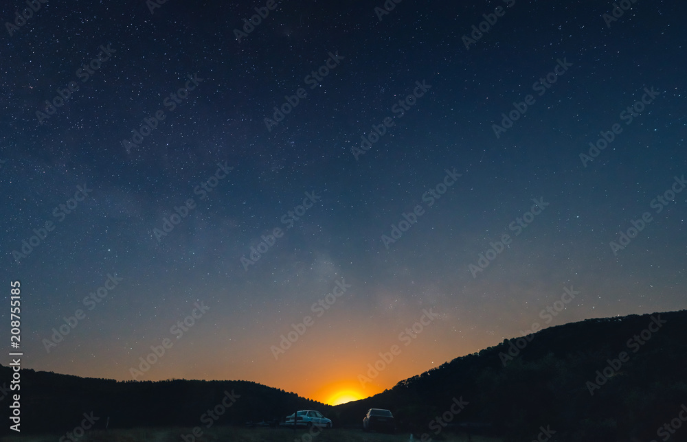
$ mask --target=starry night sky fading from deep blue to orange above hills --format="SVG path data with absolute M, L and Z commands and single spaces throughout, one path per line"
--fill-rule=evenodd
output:
M 337 403 L 685 307 L 683 3 L 34 3 L 0 8 L 24 367 Z

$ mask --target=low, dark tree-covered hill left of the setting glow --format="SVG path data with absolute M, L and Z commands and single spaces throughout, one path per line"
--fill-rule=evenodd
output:
M 0 366 L 3 380 L 9 367 Z M 229 398 L 225 392 L 229 393 Z M 12 393 L 11 391 L 8 393 Z M 296 410 L 331 406 L 250 381 L 166 380 L 137 382 L 21 370 L 21 432 L 73 430 L 83 414 L 98 418 L 94 428 L 195 427 L 282 419 Z M 236 397 L 236 395 L 240 397 Z M 231 398 L 235 399 L 232 403 Z M 221 406 L 225 402 L 225 406 Z M 10 395 L 1 404 L 9 406 Z M 228 406 L 231 404 L 231 406 Z M 216 419 L 208 410 L 221 406 Z M 6 408 L 5 408 L 6 409 Z M 203 417 L 205 415 L 205 417 Z M 10 432 L 3 426 L 3 434 Z M 14 432 L 12 432 L 14 433 Z

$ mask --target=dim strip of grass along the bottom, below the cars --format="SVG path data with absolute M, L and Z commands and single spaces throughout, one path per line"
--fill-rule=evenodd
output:
M 181 434 L 190 434 L 191 428 L 134 428 L 131 430 L 95 430 L 85 434 L 78 442 L 182 442 Z M 64 434 L 38 434 L 3 437 L 3 442 L 55 442 Z M 415 440 L 419 442 L 419 434 Z M 307 431 L 284 428 L 203 428 L 203 435 L 195 442 L 401 442 L 408 441 L 410 434 L 377 434 L 361 430 L 334 428 L 324 430 L 314 437 Z M 467 442 L 466 436 L 438 434 L 434 441 Z M 187 439 L 191 442 L 192 439 Z M 499 439 L 473 436 L 471 442 L 500 442 Z

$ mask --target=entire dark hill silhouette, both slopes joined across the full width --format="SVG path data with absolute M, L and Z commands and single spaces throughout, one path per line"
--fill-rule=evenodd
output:
M 651 334 L 644 341 L 642 331 L 651 324 L 655 332 L 644 332 L 644 338 Z M 247 381 L 115 382 L 23 370 L 22 431 L 70 430 L 91 411 L 110 417 L 110 428 L 199 426 L 201 415 L 221 404 L 225 391 L 234 391 L 240 398 L 217 424 L 283 419 L 294 410 L 315 408 L 335 426 L 359 427 L 368 408 L 388 408 L 399 428 L 416 436 L 427 432 L 436 438 L 438 428 L 468 426 L 488 428 L 508 441 L 533 440 L 540 427 L 548 426 L 559 441 L 660 440 L 657 428 L 687 404 L 686 337 L 685 310 L 589 319 L 543 329 L 528 336 L 531 340 L 504 340 L 374 397 L 336 407 Z M 505 357 L 509 350 L 512 360 Z M 607 368 L 609 360 L 616 368 Z M 587 384 L 605 368 L 609 378 L 600 378 L 605 382 L 599 388 Z M 10 369 L 0 367 L 0 372 L 9 384 Z M 454 398 L 461 397 L 468 404 L 451 415 Z M 8 402 L 9 397 L 2 401 Z M 450 425 L 430 427 L 444 413 Z M 674 440 L 687 440 L 685 427 L 675 430 Z

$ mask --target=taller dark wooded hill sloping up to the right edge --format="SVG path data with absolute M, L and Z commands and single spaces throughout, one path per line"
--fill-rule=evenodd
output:
M 640 334 L 655 324 L 652 316 L 665 324 L 653 325 L 657 332 L 644 341 Z M 687 311 L 588 319 L 529 337 L 513 360 L 503 356 L 515 353 L 516 340 L 504 340 L 338 406 L 339 419 L 353 422 L 368 408 L 388 408 L 416 434 L 432 436 L 431 420 L 462 397 L 469 404 L 452 423 L 487 424 L 506 440 L 531 441 L 540 426 L 550 426 L 557 440 L 649 441 L 662 440 L 657 428 L 687 404 Z M 627 362 L 613 362 L 618 369 L 607 369 L 611 377 L 600 388 L 589 386 L 621 351 Z M 687 440 L 687 428 L 677 431 Z

